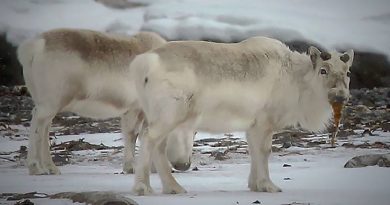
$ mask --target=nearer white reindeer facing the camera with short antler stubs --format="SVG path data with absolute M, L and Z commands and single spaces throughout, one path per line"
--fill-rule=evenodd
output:
M 240 43 L 169 42 L 131 63 L 139 101 L 149 127 L 142 137 L 133 190 L 153 190 L 153 156 L 163 193 L 183 193 L 165 163 L 161 142 L 172 130 L 246 131 L 251 156 L 248 187 L 279 192 L 269 176 L 272 134 L 287 126 L 322 130 L 331 118 L 330 102 L 349 98 L 353 51 L 309 55 L 283 43 L 254 37 Z M 185 136 L 183 136 L 185 137 Z M 153 155 L 152 155 L 153 154 Z

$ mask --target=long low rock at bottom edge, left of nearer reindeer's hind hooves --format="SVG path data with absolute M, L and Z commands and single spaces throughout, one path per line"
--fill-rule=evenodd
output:
M 52 199 L 71 199 L 73 202 L 93 205 L 138 205 L 138 203 L 121 194 L 105 191 L 62 192 L 51 195 Z

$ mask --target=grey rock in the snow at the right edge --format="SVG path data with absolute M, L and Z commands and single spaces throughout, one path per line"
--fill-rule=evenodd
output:
M 344 165 L 344 168 L 357 168 L 366 166 L 380 165 L 381 167 L 390 167 L 390 153 L 388 154 L 368 154 L 356 156 Z

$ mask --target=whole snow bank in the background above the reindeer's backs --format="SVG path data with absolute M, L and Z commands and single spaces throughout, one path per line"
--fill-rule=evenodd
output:
M 128 34 L 152 30 L 169 39 L 193 40 L 265 35 L 390 54 L 388 0 L 146 2 L 145 7 L 112 9 L 93 0 L 2 0 L 0 32 L 16 45 L 48 29 L 72 27 Z

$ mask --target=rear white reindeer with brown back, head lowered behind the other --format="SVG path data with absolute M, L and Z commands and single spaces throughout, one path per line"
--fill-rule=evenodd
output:
M 150 32 L 129 37 L 78 29 L 51 30 L 22 43 L 18 58 L 35 103 L 27 157 L 29 173 L 60 174 L 50 155 L 48 131 L 52 119 L 63 111 L 95 119 L 121 116 L 125 138 L 123 169 L 132 173 L 135 142 L 144 114 L 136 101 L 128 65 L 136 55 L 165 43 Z M 187 134 L 180 130 L 177 133 Z M 179 140 L 180 146 L 169 146 L 168 151 L 175 156 L 172 165 L 186 170 L 190 166 L 192 138 Z

